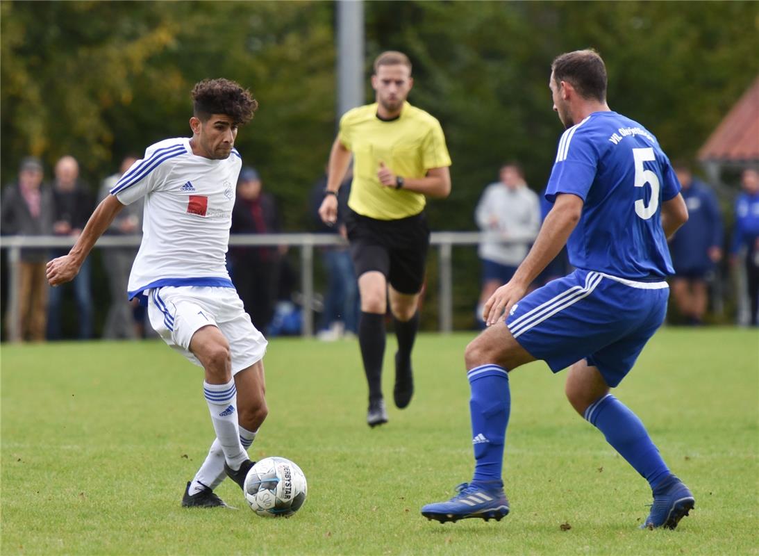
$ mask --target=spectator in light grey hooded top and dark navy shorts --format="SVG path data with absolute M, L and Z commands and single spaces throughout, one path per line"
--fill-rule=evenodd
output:
M 501 166 L 500 180 L 485 188 L 474 219 L 487 236 L 478 254 L 483 262 L 482 292 L 476 317 L 480 327 L 482 308 L 493 292 L 509 282 L 540 229 L 540 201 L 524 182 L 517 163 Z

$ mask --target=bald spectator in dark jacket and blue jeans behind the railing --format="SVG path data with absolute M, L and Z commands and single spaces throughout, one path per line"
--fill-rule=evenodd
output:
M 74 156 L 63 156 L 55 163 L 55 182 L 52 189 L 53 198 L 53 233 L 79 237 L 84 225 L 93 211 L 93 198 L 87 186 L 79 180 L 79 163 Z M 53 254 L 61 257 L 68 253 L 62 249 Z M 79 273 L 71 282 L 77 303 L 77 321 L 79 322 L 79 339 L 87 340 L 93 333 L 93 301 L 90 289 L 90 259 L 82 264 Z M 61 339 L 61 303 L 64 287 L 49 290 L 48 305 L 48 340 Z

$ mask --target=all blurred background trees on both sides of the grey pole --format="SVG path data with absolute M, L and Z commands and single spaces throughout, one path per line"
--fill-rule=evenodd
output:
M 540 190 L 561 125 L 550 62 L 592 46 L 609 105 L 692 159 L 759 73 L 756 2 L 366 2 L 367 83 L 385 49 L 414 62 L 412 103 L 439 118 L 453 166 L 433 229 L 474 229 L 499 164 L 518 160 Z M 260 101 L 241 129 L 244 163 L 279 198 L 285 229 L 310 230 L 308 191 L 335 133 L 331 2 L 2 2 L 0 182 L 20 159 L 46 174 L 71 154 L 96 188 L 125 153 L 190 134 L 189 92 L 228 77 Z M 367 100 L 373 91 L 367 84 Z M 474 269 L 472 269 L 474 270 Z M 472 273 L 471 280 L 477 276 Z

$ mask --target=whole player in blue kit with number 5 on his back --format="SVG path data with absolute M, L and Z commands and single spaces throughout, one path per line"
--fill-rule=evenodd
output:
M 664 320 L 673 273 L 666 238 L 688 220 L 675 172 L 642 125 L 606 104 L 606 68 L 593 50 L 551 66 L 553 109 L 567 130 L 546 188 L 553 208 L 509 283 L 485 305 L 489 327 L 466 349 L 474 478 L 422 514 L 441 523 L 509 513 L 502 482 L 509 372 L 543 359 L 569 367 L 569 403 L 649 482 L 644 523 L 674 529 L 694 507 L 635 413 L 609 393 Z M 575 272 L 525 296 L 563 245 Z M 504 317 L 505 314 L 505 317 Z M 505 322 L 505 324 L 504 324 Z

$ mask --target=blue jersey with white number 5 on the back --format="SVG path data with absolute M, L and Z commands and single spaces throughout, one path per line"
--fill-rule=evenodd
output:
M 656 137 L 616 112 L 594 112 L 562 134 L 546 199 L 584 201 L 567 242 L 575 267 L 631 280 L 674 273 L 661 204 L 680 191 Z

